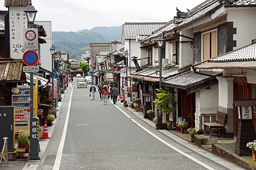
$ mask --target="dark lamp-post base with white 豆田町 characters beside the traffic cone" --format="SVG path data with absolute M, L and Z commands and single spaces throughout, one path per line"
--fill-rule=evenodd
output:
M 39 159 L 39 118 L 30 118 L 30 160 Z

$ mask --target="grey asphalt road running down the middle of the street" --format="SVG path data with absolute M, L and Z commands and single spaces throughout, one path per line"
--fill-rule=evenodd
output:
M 120 103 L 117 106 L 119 105 L 121 110 L 125 111 L 131 118 L 128 118 L 110 102 L 104 105 L 103 101 L 99 100 L 98 92 L 95 94 L 95 100 L 91 100 L 89 97 L 90 86 L 77 89 L 75 81 L 76 78 L 72 83 L 74 89 L 59 169 L 207 169 L 200 165 L 200 162 L 212 169 L 227 169 L 166 137 Z M 53 169 L 70 96 L 71 88 L 63 100 L 56 131 L 42 166 L 43 170 Z M 131 119 L 163 141 L 193 157 L 196 161 L 165 145 Z M 198 161 L 200 162 L 198 163 Z

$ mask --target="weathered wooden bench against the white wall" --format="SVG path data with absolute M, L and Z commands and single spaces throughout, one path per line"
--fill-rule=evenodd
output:
M 226 119 L 227 119 L 227 114 L 226 113 L 223 113 L 223 112 L 220 112 L 220 111 L 217 111 L 217 114 L 216 114 L 216 123 L 203 123 L 204 125 L 204 135 L 205 135 L 205 131 L 206 131 L 206 126 L 208 126 L 210 128 L 210 138 L 211 138 L 211 130 L 213 128 L 217 128 L 218 130 L 218 135 L 215 135 L 215 136 L 220 136 L 219 135 L 219 129 L 223 129 L 223 137 L 225 137 L 225 124 L 226 124 Z

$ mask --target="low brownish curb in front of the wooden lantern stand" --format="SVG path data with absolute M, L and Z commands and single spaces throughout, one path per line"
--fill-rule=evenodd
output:
M 245 169 L 256 170 L 256 165 L 246 161 L 237 154 L 227 150 L 226 148 L 222 147 L 221 145 L 218 145 L 217 143 L 212 143 L 211 148 L 213 153 L 221 156 L 222 158 L 225 158 L 239 166 L 242 166 Z

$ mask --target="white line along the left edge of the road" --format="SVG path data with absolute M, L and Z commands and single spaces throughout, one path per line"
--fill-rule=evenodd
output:
M 67 117 L 65 120 L 65 125 L 64 125 L 64 129 L 63 129 L 63 133 L 60 139 L 60 145 L 59 145 L 59 149 L 56 155 L 56 159 L 53 165 L 53 170 L 59 170 L 60 169 L 60 162 L 61 162 L 61 157 L 62 157 L 62 152 L 63 152 L 63 147 L 64 147 L 64 143 L 65 143 L 65 138 L 66 138 L 66 134 L 67 134 L 67 128 L 68 128 L 68 119 L 69 119 L 69 112 L 70 112 L 70 107 L 71 107 L 71 100 L 72 100 L 72 94 L 73 94 L 73 87 L 72 84 L 70 83 L 72 91 L 71 91 L 71 95 L 70 95 L 70 99 L 69 99 L 69 104 L 68 104 L 68 112 L 67 112 Z

